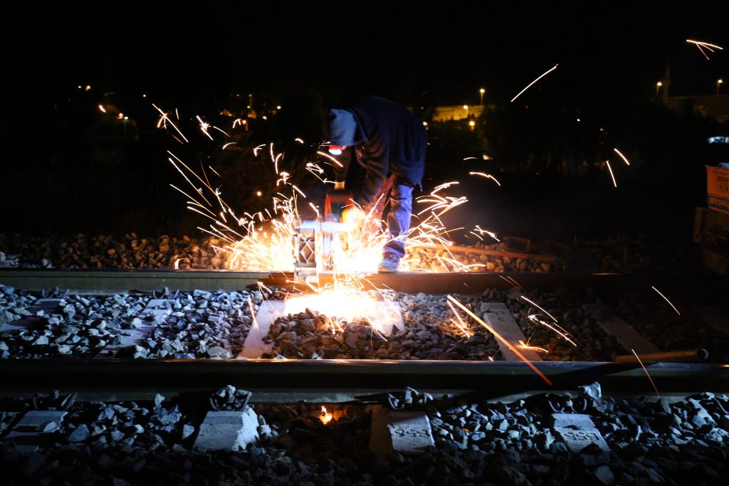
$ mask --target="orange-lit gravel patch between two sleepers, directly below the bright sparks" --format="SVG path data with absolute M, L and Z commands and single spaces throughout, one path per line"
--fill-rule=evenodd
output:
M 336 316 L 316 311 L 286 315 L 271 325 L 267 341 L 273 342 L 273 350 L 263 357 L 485 361 L 496 355 L 496 340 L 472 318 L 463 316 L 470 335 L 451 322 L 454 315 L 445 297 L 398 293 L 393 298 L 402 310 L 402 331 L 383 337 L 363 320 L 342 321 L 343 332 L 334 332 L 330 323 Z M 461 297 L 461 302 L 478 310 L 481 300 Z

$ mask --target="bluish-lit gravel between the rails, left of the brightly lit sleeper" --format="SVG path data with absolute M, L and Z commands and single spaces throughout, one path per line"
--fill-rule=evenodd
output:
M 61 299 L 58 307 L 33 313 L 37 295 L 0 285 L 0 324 L 21 318 L 29 321 L 19 331 L 0 332 L 1 358 L 89 358 L 106 347 L 118 348 L 120 357 L 230 358 L 243 348 L 251 313 L 262 302 L 260 291 L 168 295 L 171 315 L 138 344 L 120 348 L 125 334 L 152 324 L 136 315 L 155 296 L 80 296 L 58 291 L 49 296 Z

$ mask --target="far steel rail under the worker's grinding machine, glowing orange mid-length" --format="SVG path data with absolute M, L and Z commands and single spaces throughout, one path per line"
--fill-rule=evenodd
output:
M 484 289 L 512 288 L 502 277 L 510 276 L 526 290 L 556 289 L 631 292 L 675 291 L 683 297 L 726 295 L 729 281 L 716 275 L 619 275 L 564 273 L 380 273 L 365 279 L 366 285 L 397 291 L 429 294 L 477 294 Z M 327 283 L 332 275 L 322 275 Z M 69 289 L 79 292 L 172 290 L 241 290 L 265 285 L 291 287 L 292 273 L 237 272 L 232 270 L 47 270 L 0 269 L 0 283 L 19 289 Z M 305 289 L 305 286 L 301 286 Z

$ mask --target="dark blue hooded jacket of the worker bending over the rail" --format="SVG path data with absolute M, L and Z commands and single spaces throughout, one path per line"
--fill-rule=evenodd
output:
M 355 146 L 367 178 L 384 180 L 392 173 L 406 184 L 421 184 L 425 128 L 405 106 L 378 96 L 359 98 L 346 110 L 330 111 L 330 130 L 332 144 Z M 349 157 L 349 151 L 341 157 L 344 167 L 336 171 L 337 181 L 345 179 Z

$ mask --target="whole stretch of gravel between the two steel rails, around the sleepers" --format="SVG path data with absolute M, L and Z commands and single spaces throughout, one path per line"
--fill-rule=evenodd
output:
M 157 297 L 170 303 L 170 315 L 155 324 L 140 315 L 155 295 L 83 296 L 58 290 L 44 294 L 60 299 L 58 307 L 42 309 L 37 304 L 42 295 L 0 285 L 0 324 L 18 320 L 25 324 L 0 332 L 0 358 L 90 358 L 99 353 L 129 358 L 232 358 L 243 348 L 252 313 L 263 299 L 286 295 L 278 290 L 268 296 L 260 291 L 162 292 Z M 465 313 L 461 313 L 465 331 L 453 323 L 457 319 L 444 296 L 393 291 L 383 295 L 399 306 L 402 331 L 382 337 L 366 319 L 346 322 L 310 310 L 278 318 L 266 338 L 273 350 L 263 357 L 502 359 L 498 343 L 483 326 Z M 523 297 L 543 307 L 558 323 Z M 728 337 L 717 335 L 689 312 L 679 317 L 658 295 L 650 301 L 636 295 L 597 297 L 592 289 L 582 293 L 486 289 L 478 297 L 459 299 L 477 315 L 483 315 L 483 302 L 506 303 L 526 343 L 547 351 L 539 351 L 546 361 L 613 361 L 630 353 L 585 313 L 584 305 L 601 304 L 661 350 L 706 348 L 709 361 L 729 362 Z M 534 315 L 538 320 L 529 317 Z M 332 319 L 340 321 L 341 332 L 332 331 Z M 566 332 L 577 345 L 558 331 Z M 140 336 L 133 345 L 131 335 Z

